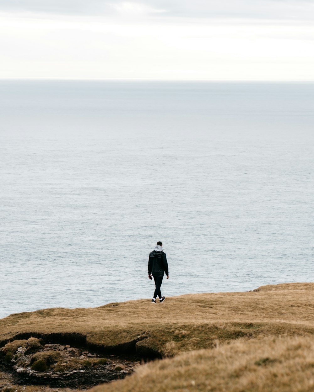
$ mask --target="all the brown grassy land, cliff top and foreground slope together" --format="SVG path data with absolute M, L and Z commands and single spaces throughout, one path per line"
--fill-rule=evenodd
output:
M 0 344 L 38 336 L 104 352 L 174 356 L 97 392 L 314 391 L 313 320 L 314 283 L 288 283 L 162 304 L 142 299 L 13 314 L 0 320 Z

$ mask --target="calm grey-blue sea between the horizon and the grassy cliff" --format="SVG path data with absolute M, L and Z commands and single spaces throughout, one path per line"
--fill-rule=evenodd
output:
M 0 317 L 314 281 L 314 84 L 0 82 Z

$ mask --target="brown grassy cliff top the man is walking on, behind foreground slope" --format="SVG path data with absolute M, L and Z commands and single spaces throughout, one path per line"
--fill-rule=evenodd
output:
M 314 283 L 262 286 L 251 292 L 188 294 L 111 303 L 98 308 L 53 308 L 0 320 L 0 343 L 39 336 L 79 339 L 103 350 L 133 347 L 172 356 L 212 348 L 217 341 L 314 333 Z

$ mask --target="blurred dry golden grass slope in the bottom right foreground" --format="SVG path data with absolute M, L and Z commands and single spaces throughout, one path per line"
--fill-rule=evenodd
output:
M 305 392 L 314 390 L 313 337 L 238 339 L 137 368 L 90 392 Z

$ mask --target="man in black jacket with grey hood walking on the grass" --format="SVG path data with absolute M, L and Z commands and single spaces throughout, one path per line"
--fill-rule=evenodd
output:
M 152 280 L 152 276 L 155 281 L 155 292 L 152 299 L 152 303 L 156 303 L 157 296 L 159 297 L 159 302 L 162 303 L 166 299 L 161 296 L 161 283 L 164 273 L 166 272 L 167 279 L 169 279 L 168 263 L 166 258 L 166 253 L 162 251 L 162 242 L 158 241 L 155 249 L 150 252 L 150 257 L 148 258 L 148 278 Z

